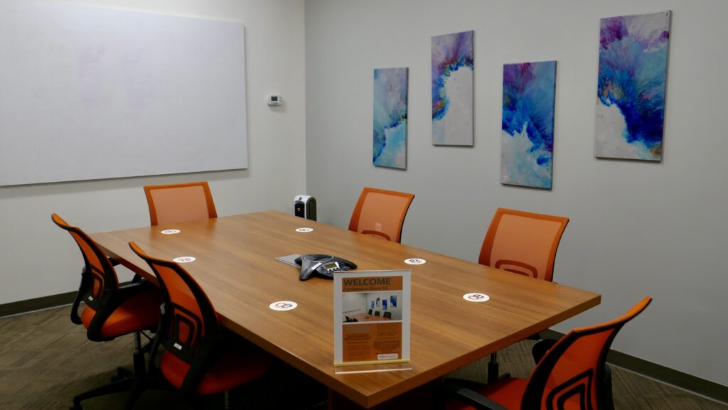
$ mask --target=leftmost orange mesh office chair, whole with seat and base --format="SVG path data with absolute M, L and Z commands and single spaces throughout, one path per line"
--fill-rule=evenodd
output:
M 133 373 L 128 374 L 119 368 L 119 373 L 112 379 L 114 382 L 110 385 L 76 395 L 71 409 L 81 409 L 81 401 L 130 390 L 136 381 L 145 377 L 141 331 L 157 328 L 162 296 L 159 289 L 146 280 L 119 286 L 114 269 L 115 261 L 108 259 L 81 229 L 70 226 L 55 213 L 51 219 L 71 234 L 84 257 L 81 285 L 71 307 L 71 321 L 77 325 L 82 324 L 87 329 L 88 339 L 95 342 L 134 334 Z M 82 301 L 86 306 L 79 316 L 78 311 Z

